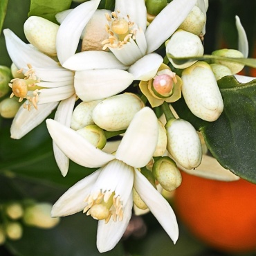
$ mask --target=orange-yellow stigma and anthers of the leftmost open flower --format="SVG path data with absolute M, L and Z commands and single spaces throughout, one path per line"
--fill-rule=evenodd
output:
M 19 102 L 27 99 L 28 103 L 24 104 L 24 108 L 30 111 L 31 104 L 35 107 L 35 109 L 37 109 L 39 87 L 36 85 L 36 83 L 39 83 L 40 80 L 37 79 L 35 71 L 30 64 L 28 64 L 28 68 L 28 71 L 24 74 L 24 79 L 12 79 L 9 83 L 9 86 L 10 88 L 12 88 L 12 94 L 10 95 L 10 98 L 16 96 L 19 98 Z M 19 70 L 17 72 L 21 73 L 22 70 Z

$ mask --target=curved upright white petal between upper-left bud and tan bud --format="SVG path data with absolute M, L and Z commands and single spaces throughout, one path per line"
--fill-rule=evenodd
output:
M 82 30 L 93 16 L 99 3 L 100 0 L 91 0 L 80 4 L 66 16 L 60 25 L 56 48 L 61 64 L 75 54 Z

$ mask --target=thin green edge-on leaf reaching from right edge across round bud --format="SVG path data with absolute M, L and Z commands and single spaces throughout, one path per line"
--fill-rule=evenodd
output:
M 252 68 L 256 68 L 256 59 L 253 58 L 233 58 L 233 57 L 222 57 L 216 55 L 203 55 L 203 56 L 193 56 L 193 57 L 174 57 L 170 53 L 167 53 L 167 56 L 174 59 L 175 62 L 183 63 L 185 61 L 193 61 L 193 60 L 204 60 L 204 61 L 214 61 L 214 60 L 222 60 L 228 62 L 235 62 L 239 64 L 244 64 L 245 66 L 250 66 Z

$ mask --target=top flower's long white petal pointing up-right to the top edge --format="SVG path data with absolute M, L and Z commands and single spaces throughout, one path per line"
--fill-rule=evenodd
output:
M 147 53 L 155 51 L 179 28 L 195 5 L 196 0 L 174 0 L 147 27 Z

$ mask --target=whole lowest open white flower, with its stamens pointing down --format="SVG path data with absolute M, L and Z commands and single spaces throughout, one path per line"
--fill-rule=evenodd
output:
M 115 156 L 93 147 L 75 131 L 55 120 L 46 122 L 53 140 L 71 160 L 85 167 L 101 167 L 60 197 L 53 205 L 53 217 L 87 211 L 99 220 L 98 250 L 101 253 L 111 250 L 131 218 L 134 187 L 176 242 L 179 230 L 172 208 L 137 169 L 150 161 L 158 140 L 158 122 L 151 109 L 145 107 L 136 113 Z

